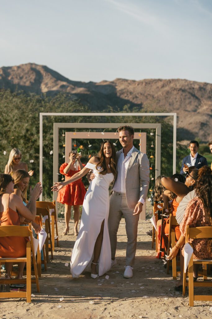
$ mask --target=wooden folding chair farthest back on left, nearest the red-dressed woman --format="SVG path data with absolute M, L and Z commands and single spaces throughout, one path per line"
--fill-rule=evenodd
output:
M 57 222 L 57 212 L 56 212 L 56 204 L 55 200 L 53 202 L 36 202 L 36 207 L 38 208 L 47 208 L 49 207 L 49 210 L 53 210 L 50 214 L 51 217 L 51 242 L 52 242 L 52 249 L 54 251 L 54 241 L 57 241 L 57 246 L 59 247 L 59 238 L 58 238 L 58 222 Z M 55 238 L 55 232 L 54 232 L 54 226 L 56 230 L 56 238 Z

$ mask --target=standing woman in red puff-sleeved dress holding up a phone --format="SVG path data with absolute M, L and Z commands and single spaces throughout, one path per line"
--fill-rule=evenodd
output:
M 69 153 L 69 163 L 63 163 L 60 167 L 60 174 L 65 175 L 65 180 L 79 172 L 84 164 L 81 163 L 80 155 L 78 153 Z M 78 181 L 65 185 L 58 192 L 57 202 L 65 204 L 65 230 L 64 235 L 69 232 L 69 221 L 71 218 L 71 208 L 74 209 L 74 235 L 78 235 L 79 223 L 79 206 L 83 204 L 85 197 L 85 186 L 80 178 Z

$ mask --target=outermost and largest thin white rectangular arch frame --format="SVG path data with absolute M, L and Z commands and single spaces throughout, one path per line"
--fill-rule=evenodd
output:
M 43 183 L 43 116 L 173 116 L 173 174 L 176 172 L 176 113 L 40 113 L 39 177 L 41 183 Z M 40 200 L 42 200 L 42 195 L 40 196 Z

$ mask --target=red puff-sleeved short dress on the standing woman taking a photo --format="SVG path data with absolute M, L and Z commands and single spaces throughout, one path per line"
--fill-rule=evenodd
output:
M 77 171 L 69 170 L 68 173 L 64 173 L 64 168 L 68 166 L 68 163 L 63 163 L 60 166 L 60 174 L 65 175 L 65 181 L 69 177 L 72 177 L 74 174 L 80 172 L 80 169 Z M 83 165 L 85 166 L 85 165 Z M 67 205 L 82 205 L 85 197 L 85 186 L 80 178 L 78 181 L 71 184 L 65 185 L 62 189 L 58 191 L 57 202 Z

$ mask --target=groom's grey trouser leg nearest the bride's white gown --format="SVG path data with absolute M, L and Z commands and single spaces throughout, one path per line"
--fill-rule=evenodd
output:
M 121 211 L 121 196 L 115 196 L 114 194 L 110 197 L 110 211 L 108 217 L 108 231 L 110 236 L 111 245 L 111 259 L 115 259 L 116 245 L 117 245 L 117 232 L 119 229 L 119 223 L 122 217 Z

